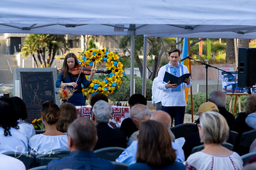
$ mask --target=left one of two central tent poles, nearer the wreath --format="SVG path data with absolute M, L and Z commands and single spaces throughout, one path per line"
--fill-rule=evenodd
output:
M 130 85 L 130 96 L 134 94 L 134 34 L 135 29 L 132 29 L 132 25 L 135 28 L 134 24 L 130 25 L 131 28 L 131 85 Z

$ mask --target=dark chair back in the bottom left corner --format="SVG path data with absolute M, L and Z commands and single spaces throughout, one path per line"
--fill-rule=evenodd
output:
M 16 159 L 19 159 L 21 162 L 23 162 L 26 169 L 33 167 L 34 160 L 35 160 L 33 155 L 29 155 L 26 153 L 20 153 L 20 152 L 5 152 L 3 154 L 8 155 L 10 157 L 14 157 Z

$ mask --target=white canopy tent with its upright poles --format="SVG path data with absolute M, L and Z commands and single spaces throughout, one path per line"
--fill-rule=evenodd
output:
M 256 38 L 255 4 L 241 0 L 0 0 L 0 33 L 131 36 L 133 73 L 134 35 Z M 133 78 L 131 74 L 131 94 Z

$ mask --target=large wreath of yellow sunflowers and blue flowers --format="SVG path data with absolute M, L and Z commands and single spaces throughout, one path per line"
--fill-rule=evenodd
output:
M 110 74 L 103 76 L 103 80 L 93 79 L 92 83 L 88 88 L 83 88 L 82 92 L 85 96 L 89 97 L 97 92 L 102 94 L 113 94 L 114 90 L 118 89 L 120 84 L 123 83 L 123 78 L 125 76 L 124 64 L 120 61 L 120 56 L 116 53 L 108 52 L 105 48 L 101 50 L 89 49 L 84 52 L 79 53 L 78 62 L 81 66 L 96 66 L 102 65 L 106 66 L 105 69 L 111 70 Z M 88 79 L 90 75 L 86 75 Z M 101 76 L 102 77 L 102 76 Z

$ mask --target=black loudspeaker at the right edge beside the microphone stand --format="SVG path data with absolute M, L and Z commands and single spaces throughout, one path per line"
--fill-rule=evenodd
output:
M 238 50 L 238 87 L 256 85 L 256 48 Z

